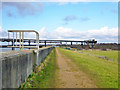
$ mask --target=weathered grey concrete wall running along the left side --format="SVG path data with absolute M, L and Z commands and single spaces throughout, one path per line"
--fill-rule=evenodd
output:
M 52 49 L 53 47 L 39 50 L 39 64 Z M 33 72 L 36 64 L 33 50 L 3 53 L 0 58 L 0 89 L 18 88 Z

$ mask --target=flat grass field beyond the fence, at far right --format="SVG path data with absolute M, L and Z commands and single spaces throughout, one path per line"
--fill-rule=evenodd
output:
M 80 51 L 98 55 L 98 56 L 106 56 L 112 61 L 118 61 L 118 51 L 115 51 L 115 50 L 109 50 L 109 51 L 80 50 Z

